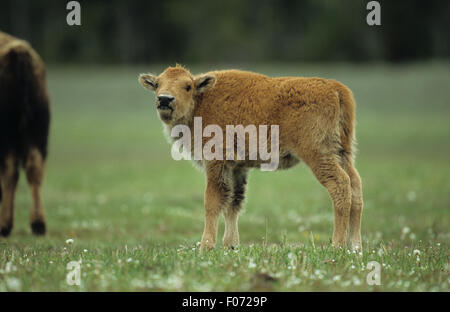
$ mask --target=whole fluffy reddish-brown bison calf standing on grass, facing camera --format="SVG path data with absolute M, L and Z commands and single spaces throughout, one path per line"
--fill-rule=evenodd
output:
M 218 125 L 221 129 L 227 125 L 278 125 L 278 169 L 304 161 L 327 188 L 333 201 L 333 245 L 345 244 L 349 228 L 351 246 L 361 248 L 363 200 L 352 149 L 355 101 L 346 86 L 335 80 L 270 78 L 239 70 L 192 76 L 178 65 L 157 77 L 142 74 L 139 82 L 156 91 L 158 113 L 169 133 L 177 125 L 195 131 L 195 117 L 202 118 L 203 128 L 208 125 Z M 202 143 L 205 142 L 203 138 Z M 225 151 L 224 146 L 219 148 Z M 248 149 L 245 153 L 248 156 Z M 263 162 L 260 157 L 200 162 L 206 172 L 201 249 L 215 246 L 221 212 L 225 217 L 224 245 L 239 244 L 237 222 L 247 172 Z

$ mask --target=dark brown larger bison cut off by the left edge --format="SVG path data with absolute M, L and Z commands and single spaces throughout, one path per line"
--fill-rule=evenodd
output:
M 28 43 L 0 32 L 0 234 L 13 227 L 14 194 L 23 166 L 33 205 L 31 229 L 45 234 L 41 199 L 50 112 L 45 68 Z

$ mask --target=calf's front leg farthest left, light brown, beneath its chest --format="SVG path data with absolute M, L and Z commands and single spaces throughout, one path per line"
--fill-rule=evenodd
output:
M 225 169 L 221 162 L 207 162 L 205 169 L 205 227 L 200 251 L 213 249 L 216 246 L 219 215 L 230 200 L 230 185 L 227 178 L 230 175 L 229 169 Z

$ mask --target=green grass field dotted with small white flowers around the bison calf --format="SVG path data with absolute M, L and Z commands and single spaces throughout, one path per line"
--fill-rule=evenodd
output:
M 240 249 L 200 255 L 204 177 L 172 160 L 153 94 L 137 83 L 161 69 L 49 68 L 49 232 L 31 235 L 22 174 L 13 232 L 0 238 L 0 291 L 449 291 L 450 63 L 244 67 L 354 91 L 362 255 L 330 248 L 331 201 L 304 165 L 252 172 Z M 78 260 L 81 285 L 69 286 Z M 380 286 L 366 283 L 370 261 Z

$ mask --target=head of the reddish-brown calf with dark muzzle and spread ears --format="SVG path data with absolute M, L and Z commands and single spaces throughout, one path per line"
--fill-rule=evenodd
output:
M 189 118 L 194 109 L 195 96 L 212 88 L 215 82 L 213 74 L 193 77 L 179 65 L 167 68 L 159 76 L 139 76 L 139 83 L 156 93 L 156 108 L 159 117 L 166 124 L 175 124 Z

